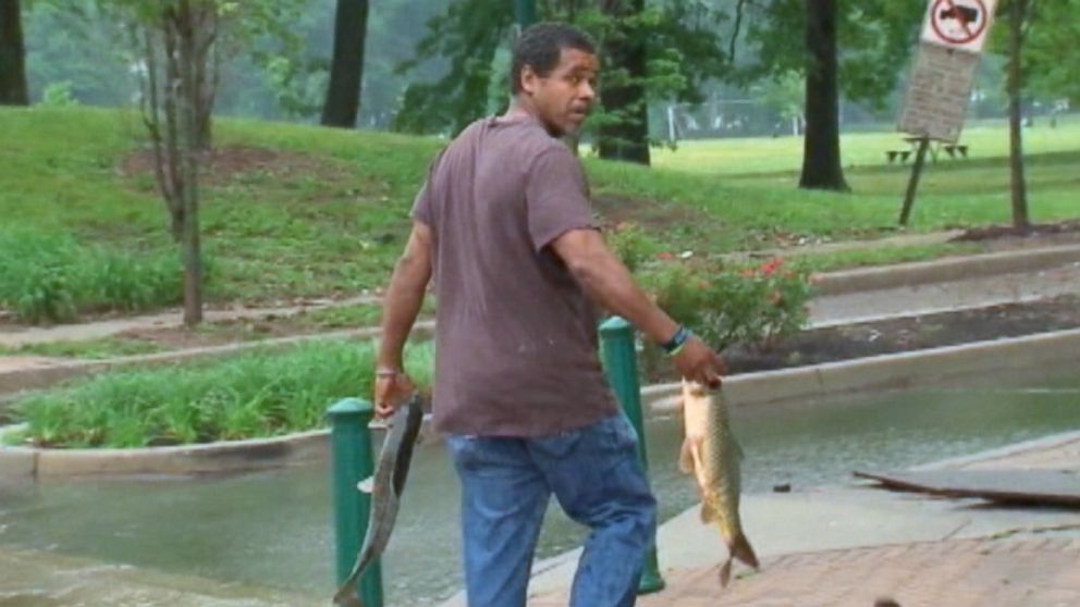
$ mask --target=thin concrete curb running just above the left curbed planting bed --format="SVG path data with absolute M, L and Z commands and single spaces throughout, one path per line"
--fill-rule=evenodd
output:
M 433 321 L 418 322 L 414 329 L 414 336 L 429 337 L 433 331 Z M 175 350 L 151 355 L 125 356 L 106 360 L 62 360 L 53 364 L 38 364 L 30 368 L 0 371 L 0 395 L 13 394 L 28 389 L 39 389 L 56 385 L 59 382 L 72 377 L 89 375 L 91 373 L 101 373 L 103 371 L 111 371 L 124 367 L 140 364 L 170 364 L 173 362 L 194 360 L 201 357 L 242 354 L 260 348 L 283 348 L 321 339 L 372 338 L 378 337 L 379 332 L 379 327 L 366 327 L 348 331 L 335 331 L 331 333 L 296 335 L 293 337 L 280 337 L 275 339 L 263 339 L 261 342 L 226 344 L 224 346 L 210 346 L 206 348 L 189 348 L 186 350 Z M 0 411 L 3 409 L 3 402 L 0 401 Z

